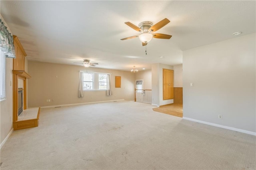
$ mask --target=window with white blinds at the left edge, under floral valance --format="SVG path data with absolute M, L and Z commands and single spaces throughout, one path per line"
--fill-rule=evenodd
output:
M 6 87 L 5 87 L 5 78 L 6 78 L 6 56 L 1 50 L 0 56 L 0 101 L 6 99 Z

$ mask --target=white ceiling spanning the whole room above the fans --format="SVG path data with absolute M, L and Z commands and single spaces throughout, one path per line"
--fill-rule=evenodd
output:
M 28 60 L 97 68 L 151 69 L 182 63 L 182 51 L 256 32 L 256 1 L 0 1 L 0 12 L 18 36 Z M 171 22 L 145 46 L 124 22 Z M 163 58 L 160 58 L 163 56 Z

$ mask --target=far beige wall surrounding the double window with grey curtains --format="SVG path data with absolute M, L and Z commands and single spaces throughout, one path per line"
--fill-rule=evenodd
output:
M 28 61 L 32 78 L 28 79 L 28 107 L 55 106 L 106 100 L 134 100 L 135 74 L 126 71 L 85 68 L 65 64 Z M 78 98 L 79 71 L 111 73 L 113 95 L 106 90 L 84 91 Z M 115 76 L 121 76 L 121 88 L 115 88 Z M 51 102 L 46 102 L 50 99 Z

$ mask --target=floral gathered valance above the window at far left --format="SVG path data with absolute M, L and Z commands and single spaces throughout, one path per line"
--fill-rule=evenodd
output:
M 4 22 L 0 18 L 0 49 L 4 52 L 5 56 L 8 58 L 15 58 L 15 49 L 13 36 L 7 30 Z

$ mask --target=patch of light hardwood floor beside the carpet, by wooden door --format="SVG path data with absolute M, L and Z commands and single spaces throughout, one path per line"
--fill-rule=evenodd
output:
M 158 108 L 153 108 L 155 112 L 170 114 L 172 116 L 183 117 L 183 104 L 167 104 Z

